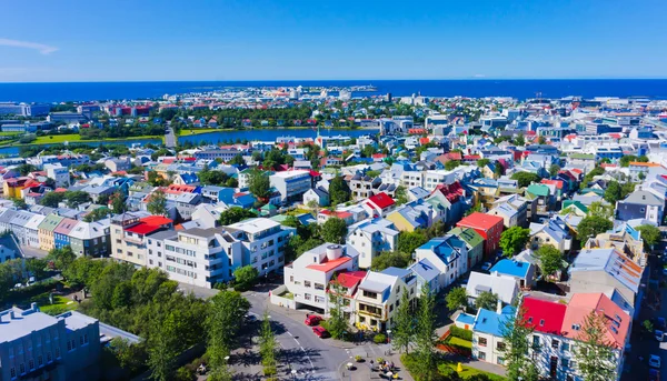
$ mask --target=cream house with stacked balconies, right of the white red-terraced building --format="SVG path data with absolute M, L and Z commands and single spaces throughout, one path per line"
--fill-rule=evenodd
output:
M 382 332 L 394 327 L 394 314 L 404 292 L 408 300 L 416 298 L 417 277 L 407 269 L 388 268 L 369 271 L 359 283 L 355 298 L 356 325 L 361 330 Z

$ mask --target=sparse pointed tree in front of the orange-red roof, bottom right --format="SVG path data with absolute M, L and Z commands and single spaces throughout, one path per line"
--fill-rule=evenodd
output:
M 575 358 L 584 380 L 606 381 L 616 378 L 616 357 L 607 340 L 607 318 L 597 310 L 590 311 L 577 338 Z

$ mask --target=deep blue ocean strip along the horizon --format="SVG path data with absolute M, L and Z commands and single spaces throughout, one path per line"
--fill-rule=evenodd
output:
M 349 80 L 349 81 L 196 81 L 196 82 L 44 82 L 0 83 L 0 101 L 63 102 L 159 98 L 166 93 L 200 92 L 227 87 L 351 87 L 372 84 L 377 92 L 407 97 L 512 97 L 518 99 L 593 97 L 646 97 L 667 99 L 667 79 L 596 80 Z

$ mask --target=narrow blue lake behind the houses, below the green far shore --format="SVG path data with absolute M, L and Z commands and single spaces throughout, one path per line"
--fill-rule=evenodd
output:
M 376 134 L 378 133 L 378 129 L 359 129 L 359 130 L 320 130 L 320 134 L 322 136 L 347 136 L 352 138 L 358 138 L 365 134 Z M 299 130 L 230 130 L 230 131 L 211 131 L 209 133 L 200 133 L 188 137 L 179 137 L 179 143 L 183 143 L 189 141 L 193 144 L 200 143 L 223 143 L 229 141 L 238 140 L 261 140 L 261 141 L 276 141 L 276 139 L 281 137 L 295 137 L 295 138 L 313 138 L 317 137 L 317 131 L 312 129 L 299 129 Z M 128 147 L 132 147 L 135 144 L 162 144 L 162 141 L 159 139 L 137 139 L 137 140 L 126 140 L 126 141 L 102 141 L 102 142 L 90 142 L 78 141 L 72 142 L 72 144 L 88 144 L 91 147 L 102 146 L 117 146 L 125 144 Z M 40 144 L 42 147 L 49 147 L 54 144 Z M 18 156 L 19 147 L 10 146 L 0 148 L 0 156 Z

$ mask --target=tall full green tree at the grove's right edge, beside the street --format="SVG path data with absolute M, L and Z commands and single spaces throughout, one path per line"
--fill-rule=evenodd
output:
M 241 329 L 239 322 L 250 309 L 250 303 L 236 291 L 222 290 L 210 299 L 206 314 L 207 353 L 210 359 L 211 372 L 223 375 L 227 373 L 227 360 L 235 338 Z

